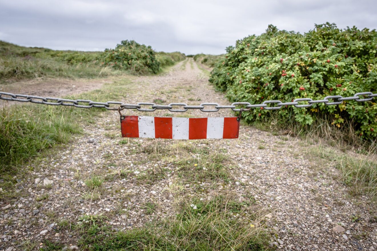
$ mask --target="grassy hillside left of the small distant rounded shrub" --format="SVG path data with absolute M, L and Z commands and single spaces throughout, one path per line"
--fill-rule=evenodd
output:
M 98 78 L 122 74 L 102 67 L 101 52 L 58 51 L 0 41 L 0 79 L 9 82 L 41 77 Z

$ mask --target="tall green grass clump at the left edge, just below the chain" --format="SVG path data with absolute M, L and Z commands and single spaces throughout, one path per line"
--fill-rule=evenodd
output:
M 67 143 L 71 134 L 81 132 L 72 113 L 64 113 L 68 109 L 45 105 L 4 109 L 0 113 L 0 171 L 24 163 L 44 148 Z

